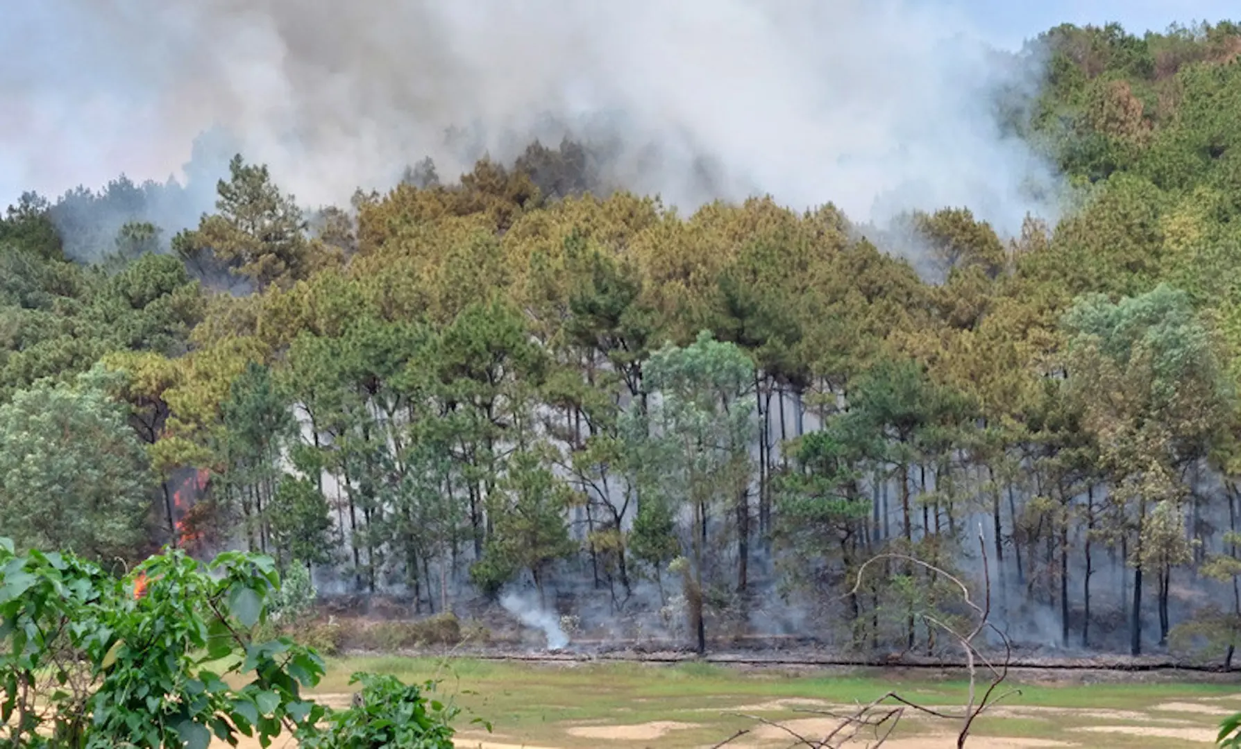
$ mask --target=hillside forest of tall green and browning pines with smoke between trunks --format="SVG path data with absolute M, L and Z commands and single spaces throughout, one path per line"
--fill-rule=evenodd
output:
M 952 646 L 926 619 L 951 582 L 867 559 L 978 580 L 985 554 L 1021 646 L 1231 663 L 1241 27 L 1037 43 L 1005 112 L 1073 203 L 1016 236 L 969 206 L 683 215 L 568 139 L 314 211 L 237 156 L 190 227 L 149 219 L 175 184 L 27 193 L 0 534 L 850 652 Z

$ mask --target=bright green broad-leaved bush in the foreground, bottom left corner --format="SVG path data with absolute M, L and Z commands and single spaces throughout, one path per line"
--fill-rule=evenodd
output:
M 69 553 L 19 556 L 0 538 L 0 738 L 206 749 L 212 737 L 268 747 L 289 733 L 305 747 L 361 748 L 380 745 L 359 743 L 374 734 L 388 747 L 452 747 L 455 712 L 395 678 L 357 675 L 371 698 L 349 711 L 303 697 L 324 673 L 318 652 L 256 637 L 279 584 L 258 554 L 202 563 L 174 549 L 115 578 Z

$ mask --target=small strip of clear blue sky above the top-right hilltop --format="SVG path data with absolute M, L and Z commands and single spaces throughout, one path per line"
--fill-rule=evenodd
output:
M 1102 25 L 1119 21 L 1128 31 L 1163 31 L 1173 21 L 1241 21 L 1237 0 L 948 0 L 995 42 L 1021 40 L 1062 22 Z

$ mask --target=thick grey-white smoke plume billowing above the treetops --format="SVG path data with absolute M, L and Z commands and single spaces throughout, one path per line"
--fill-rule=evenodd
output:
M 1054 213 L 994 97 L 1037 61 L 912 1 L 40 0 L 11 4 L 0 46 L 4 200 L 186 179 L 220 128 L 309 205 L 571 133 L 609 149 L 608 182 L 684 210 Z

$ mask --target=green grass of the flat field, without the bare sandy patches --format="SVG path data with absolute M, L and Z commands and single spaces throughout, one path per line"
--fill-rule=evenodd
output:
M 508 663 L 473 658 L 349 657 L 330 658 L 328 676 L 318 693 L 351 692 L 349 676 L 356 671 L 392 673 L 406 682 L 438 680 L 441 698 L 450 697 L 464 707 L 462 727 L 472 717 L 491 722 L 494 740 L 570 749 L 601 747 L 702 747 L 731 735 L 755 722 L 732 714 L 747 703 L 777 698 L 812 698 L 831 703 L 866 703 L 887 691 L 923 704 L 959 706 L 968 685 L 962 680 L 901 680 L 876 675 L 804 675 L 779 670 L 733 670 L 706 663 L 658 666 L 643 663 Z M 1136 711 L 1149 714 L 1155 725 L 1214 730 L 1220 718 L 1206 714 L 1153 712 L 1167 702 L 1195 702 L 1210 697 L 1237 696 L 1215 703 L 1241 709 L 1241 689 L 1210 683 L 1102 683 L 1020 685 L 1020 694 L 1003 704 L 1020 708 L 1076 708 L 1090 711 Z M 959 708 L 958 708 L 959 709 Z M 794 711 L 763 712 L 772 720 L 805 719 Z M 573 737 L 572 724 L 642 724 L 676 720 L 699 728 L 676 730 L 654 742 L 620 742 Z M 1169 738 L 1138 738 L 1129 734 L 1083 733 L 1088 725 L 1134 725 L 1124 717 L 1040 713 L 982 718 L 977 735 L 1050 738 L 1080 747 L 1203 747 Z M 1150 724 L 1150 723 L 1148 723 Z M 952 730 L 953 724 L 932 719 L 906 719 L 900 735 L 928 730 Z M 473 737 L 474 734 L 470 733 Z M 982 744 L 982 740 L 979 740 Z M 968 747 L 969 744 L 967 744 Z M 985 745 L 985 744 L 982 744 Z

